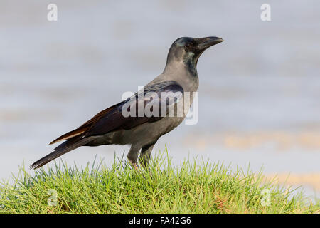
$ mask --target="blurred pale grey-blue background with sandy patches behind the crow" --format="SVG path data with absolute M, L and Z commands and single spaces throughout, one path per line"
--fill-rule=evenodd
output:
M 50 3 L 58 21 L 47 19 Z M 260 19 L 264 3 L 272 21 Z M 158 76 L 176 38 L 219 36 L 225 42 L 198 61 L 198 124 L 180 125 L 155 150 L 168 147 L 176 165 L 203 157 L 233 170 L 263 166 L 319 197 L 319 9 L 317 0 L 2 0 L 0 179 Z M 128 149 L 83 147 L 63 160 L 108 165 Z

